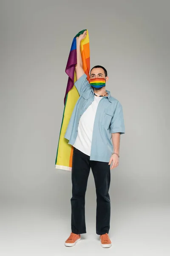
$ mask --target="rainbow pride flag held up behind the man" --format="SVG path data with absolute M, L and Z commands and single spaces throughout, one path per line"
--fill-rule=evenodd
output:
M 59 134 L 59 142 L 57 148 L 57 155 L 55 160 L 55 168 L 71 171 L 72 158 L 73 158 L 73 146 L 68 144 L 68 140 L 64 138 L 65 132 L 71 118 L 74 106 L 79 99 L 79 93 L 74 85 L 77 81 L 75 73 L 75 65 L 77 64 L 77 44 L 76 38 L 87 31 L 85 39 L 81 41 L 80 50 L 82 55 L 83 70 L 87 75 L 88 81 L 90 81 L 90 47 L 89 47 L 89 35 L 88 30 L 84 29 L 80 31 L 73 39 L 70 54 L 68 56 L 65 73 L 68 75 L 68 83 L 64 98 L 64 111 L 62 116 L 61 129 Z

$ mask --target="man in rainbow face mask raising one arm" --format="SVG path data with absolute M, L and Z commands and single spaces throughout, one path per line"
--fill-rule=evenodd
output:
M 65 246 L 80 241 L 85 227 L 85 192 L 92 169 L 96 186 L 96 233 L 102 247 L 111 247 L 108 236 L 111 205 L 110 169 L 119 165 L 120 134 L 125 133 L 121 103 L 105 90 L 107 71 L 102 66 L 91 69 L 90 84 L 82 68 L 80 42 L 86 31 L 77 37 L 77 81 L 79 99 L 74 107 L 65 138 L 74 146 L 72 163 L 71 235 Z M 111 142 L 112 139 L 112 142 Z M 112 144 L 113 143 L 113 144 Z M 114 152 L 113 152 L 114 148 Z M 113 154 L 112 154 L 113 152 Z M 110 165 L 112 166 L 110 168 Z

